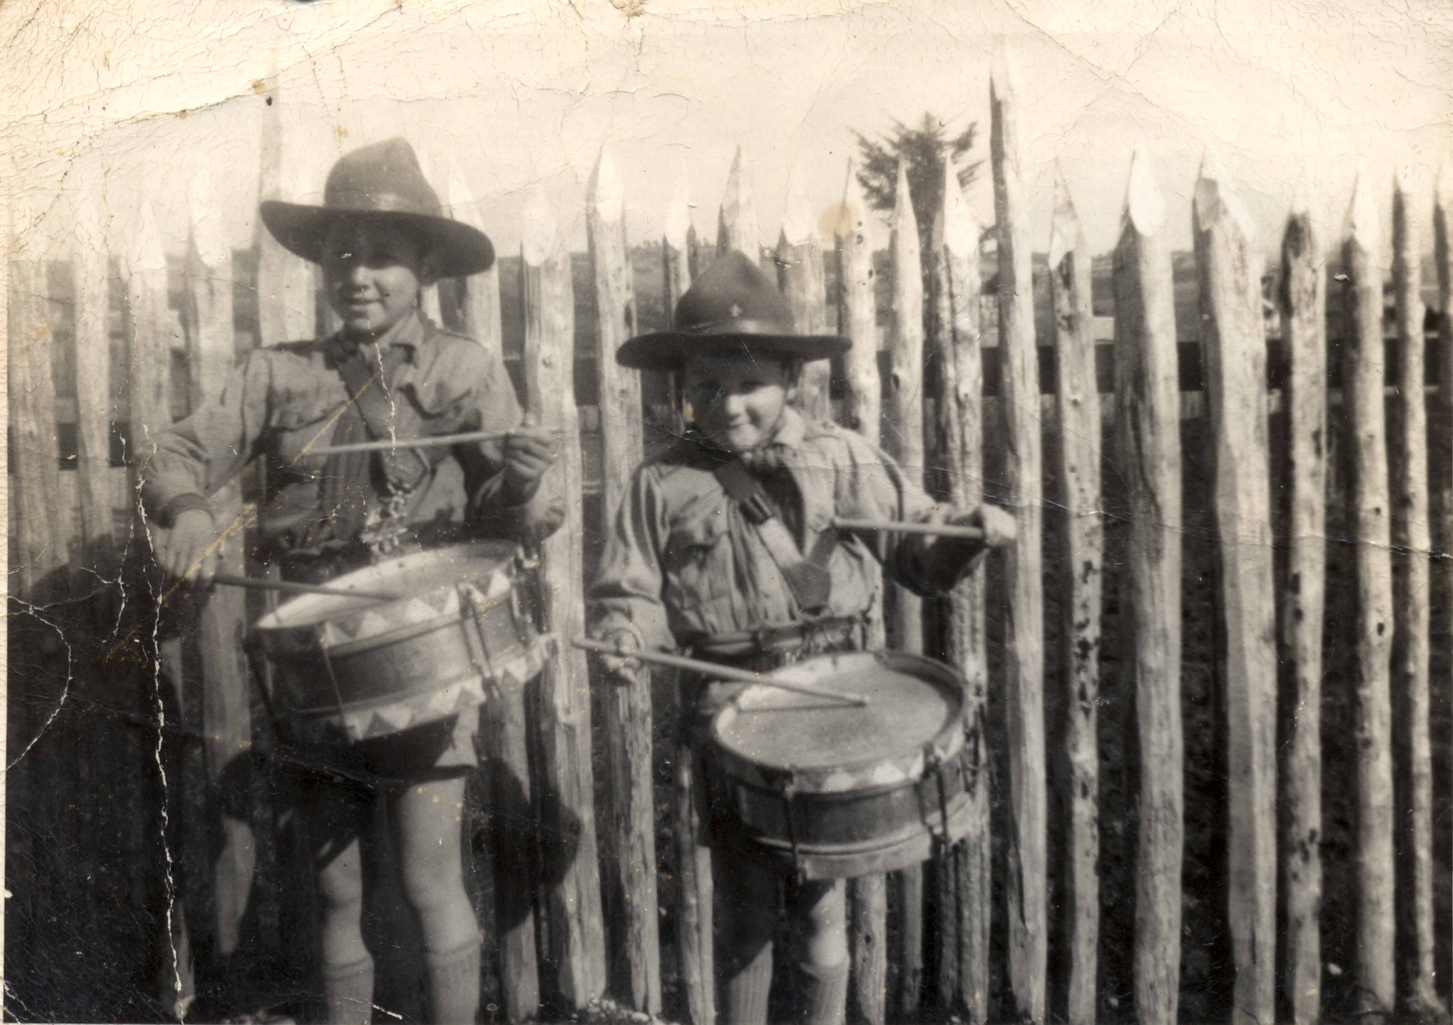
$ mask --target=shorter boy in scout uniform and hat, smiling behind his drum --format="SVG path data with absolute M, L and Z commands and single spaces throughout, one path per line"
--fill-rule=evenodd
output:
M 792 408 L 802 363 L 850 344 L 795 334 L 782 295 L 751 260 L 728 253 L 681 296 L 670 331 L 620 347 L 623 366 L 680 373 L 689 428 L 635 470 L 588 592 L 591 634 L 623 653 L 604 659 L 618 682 L 644 685 L 632 649 L 684 649 L 757 671 L 860 650 L 879 598 L 870 559 L 898 584 L 934 595 L 984 547 L 1014 536 L 1013 520 L 994 507 L 952 520 L 979 526 L 984 542 L 831 528 L 834 517 L 924 521 L 934 512 L 923 489 L 862 436 Z M 695 708 L 687 729 L 705 754 L 706 724 L 741 684 L 681 685 Z M 763 1025 L 779 870 L 734 841 L 728 813 L 712 804 L 721 1019 Z M 802 1021 L 843 1019 L 844 894 L 841 880 L 799 883 L 788 907 Z

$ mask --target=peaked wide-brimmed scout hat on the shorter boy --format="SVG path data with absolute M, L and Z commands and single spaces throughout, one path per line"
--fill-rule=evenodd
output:
M 670 370 L 690 354 L 748 351 L 779 360 L 825 360 L 853 343 L 835 334 L 798 334 L 792 306 L 745 254 L 731 250 L 708 267 L 676 303 L 670 331 L 631 338 L 616 363 Z

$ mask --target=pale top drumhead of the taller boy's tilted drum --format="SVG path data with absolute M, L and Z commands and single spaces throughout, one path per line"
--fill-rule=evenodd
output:
M 514 544 L 511 542 L 453 544 L 450 547 L 388 559 L 376 566 L 355 569 L 352 573 L 344 573 L 328 581 L 327 587 L 339 591 L 356 588 L 359 591 L 389 592 L 397 594 L 398 601 L 410 601 L 420 595 L 440 591 L 442 588 L 452 589 L 461 582 L 490 576 L 497 568 L 509 562 L 513 553 Z M 509 581 L 500 575 L 493 581 L 493 585 L 507 589 Z M 485 597 L 495 595 L 491 592 Z M 285 601 L 263 616 L 257 620 L 254 629 L 266 633 L 270 630 L 312 627 L 320 623 L 355 618 L 368 611 L 382 611 L 391 608 L 394 604 L 397 603 L 376 601 L 373 598 L 304 594 Z

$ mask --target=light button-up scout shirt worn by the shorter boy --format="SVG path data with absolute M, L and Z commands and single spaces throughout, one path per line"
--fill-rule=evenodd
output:
M 926 521 L 939 515 L 924 491 L 860 434 L 809 422 L 790 407 L 770 443 L 801 492 L 802 552 L 814 552 L 833 517 Z M 837 533 L 828 539 L 830 616 L 859 616 L 881 597 L 869 568 L 921 595 L 942 594 L 962 565 L 934 565 L 928 539 Z M 940 563 L 943 560 L 939 560 Z M 690 438 L 642 463 L 606 536 L 588 591 L 590 633 L 634 633 L 644 648 L 692 648 L 708 637 L 801 621 L 770 552 Z

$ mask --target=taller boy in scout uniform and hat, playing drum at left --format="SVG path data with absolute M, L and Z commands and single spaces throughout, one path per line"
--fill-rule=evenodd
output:
M 208 495 L 267 465 L 263 555 L 283 579 L 321 584 L 378 556 L 494 536 L 532 542 L 564 517 L 549 438 L 523 422 L 500 353 L 420 312 L 439 277 L 488 269 L 490 240 L 440 213 L 414 151 L 391 139 L 344 155 L 324 203 L 266 202 L 263 224 L 323 266 L 343 322 L 327 338 L 256 348 L 222 393 L 161 433 L 142 498 L 166 528 L 157 562 L 205 584 L 218 524 Z M 490 431 L 497 440 L 312 456 L 314 446 Z M 285 723 L 286 726 L 286 723 Z M 357 743 L 295 738 L 299 803 L 321 893 L 330 1022 L 372 1018 L 363 944 L 363 852 L 372 801 L 389 801 L 404 894 L 424 938 L 430 1019 L 472 1022 L 479 931 L 464 889 L 459 807 L 477 714 Z

